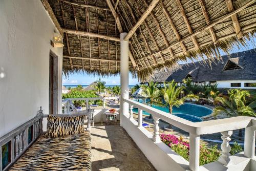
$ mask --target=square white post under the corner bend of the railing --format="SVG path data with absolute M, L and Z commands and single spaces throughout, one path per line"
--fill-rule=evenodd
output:
M 193 171 L 199 170 L 200 157 L 200 135 L 189 134 L 189 168 Z

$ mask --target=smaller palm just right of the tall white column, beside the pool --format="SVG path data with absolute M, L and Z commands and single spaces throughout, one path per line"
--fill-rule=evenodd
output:
M 161 103 L 160 90 L 157 88 L 157 82 L 154 83 L 153 81 L 150 81 L 148 82 L 148 86 L 144 84 L 141 88 L 142 96 L 148 99 L 146 101 L 147 105 L 152 106 L 153 104 Z M 149 118 L 152 118 L 151 114 Z

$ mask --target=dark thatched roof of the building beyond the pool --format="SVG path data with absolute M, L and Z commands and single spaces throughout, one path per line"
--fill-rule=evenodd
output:
M 164 73 L 156 73 L 152 77 L 154 82 L 172 81 L 182 82 L 187 76 L 193 81 L 221 81 L 221 80 L 256 80 L 256 49 L 244 52 L 233 53 L 222 56 L 222 61 L 215 60 L 211 66 L 202 65 L 202 61 L 187 63 L 180 65 L 180 69 L 169 74 L 165 79 L 158 79 L 158 75 Z M 230 68 L 228 65 L 232 64 Z M 234 67 L 237 66 L 237 67 Z M 155 79 L 154 79 L 155 78 Z

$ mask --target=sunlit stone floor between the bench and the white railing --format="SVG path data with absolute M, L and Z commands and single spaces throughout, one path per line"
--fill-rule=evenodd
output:
M 155 170 L 118 124 L 91 128 L 92 170 Z

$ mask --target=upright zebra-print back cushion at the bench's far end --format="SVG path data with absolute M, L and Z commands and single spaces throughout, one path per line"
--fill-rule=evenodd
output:
M 59 137 L 84 132 L 85 115 L 75 117 L 56 117 L 48 115 L 45 137 Z

